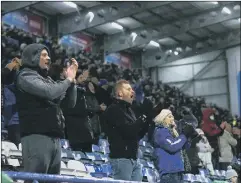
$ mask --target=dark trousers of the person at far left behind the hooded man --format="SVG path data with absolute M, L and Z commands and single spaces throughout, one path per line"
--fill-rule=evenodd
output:
M 14 143 L 17 147 L 20 144 L 20 127 L 18 124 L 7 126 L 8 140 Z

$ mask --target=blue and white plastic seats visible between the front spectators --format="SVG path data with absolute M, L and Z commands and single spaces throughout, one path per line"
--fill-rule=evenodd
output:
M 100 139 L 98 145 L 92 146 L 92 152 L 83 153 L 81 151 L 72 151 L 68 140 L 61 140 L 61 174 L 73 176 L 92 176 L 92 177 L 107 177 L 112 175 L 111 165 L 109 163 L 108 151 L 101 149 L 109 149 L 109 143 L 105 139 Z M 22 147 L 15 146 L 11 142 L 2 141 L 2 157 L 7 159 L 8 165 L 19 167 L 21 166 Z M 142 140 L 140 141 L 140 151 L 144 152 L 144 156 L 148 154 L 151 156 L 153 147 Z M 147 153 L 147 154 L 145 154 Z M 158 182 L 159 173 L 155 169 L 154 163 L 148 158 L 139 158 L 139 163 L 142 166 L 144 181 Z M 209 178 L 208 178 L 209 177 Z M 184 176 L 185 182 L 203 182 L 209 183 L 211 179 L 224 180 L 225 171 L 215 170 L 215 175 L 210 176 L 207 170 L 200 170 L 199 175 L 186 174 Z

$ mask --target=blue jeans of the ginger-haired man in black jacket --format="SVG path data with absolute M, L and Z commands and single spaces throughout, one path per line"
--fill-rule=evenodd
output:
M 142 181 L 141 165 L 133 159 L 111 159 L 113 178 L 116 180 Z

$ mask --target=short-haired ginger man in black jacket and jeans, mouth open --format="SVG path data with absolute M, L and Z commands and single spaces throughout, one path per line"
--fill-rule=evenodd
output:
M 137 150 L 146 119 L 145 116 L 137 119 L 131 109 L 135 93 L 128 81 L 117 81 L 113 93 L 115 100 L 104 113 L 113 177 L 118 180 L 142 181 Z

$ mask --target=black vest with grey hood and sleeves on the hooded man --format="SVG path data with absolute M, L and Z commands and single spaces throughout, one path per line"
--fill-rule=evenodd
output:
M 69 80 L 55 82 L 39 73 L 43 45 L 29 45 L 23 53 L 23 66 L 16 78 L 16 104 L 21 136 L 43 134 L 64 137 L 64 117 L 61 105 L 74 107 L 76 87 Z M 31 65 L 31 68 L 27 68 Z

